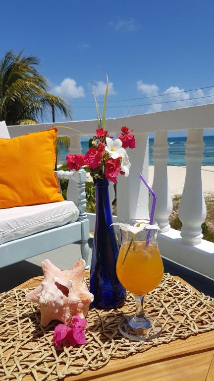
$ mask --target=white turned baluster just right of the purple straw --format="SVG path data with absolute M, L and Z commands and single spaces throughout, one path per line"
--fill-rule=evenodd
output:
M 152 189 L 157 194 L 157 203 L 154 219 L 160 224 L 160 231 L 169 230 L 168 216 L 172 212 L 172 200 L 168 188 L 167 161 L 168 145 L 167 132 L 156 132 L 153 146 L 154 178 Z M 153 197 L 150 197 L 149 206 L 152 208 Z

